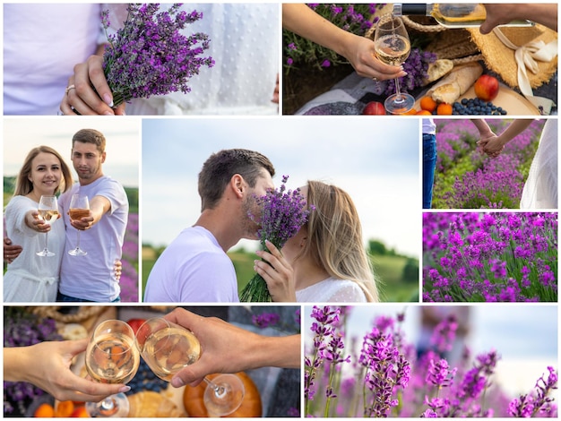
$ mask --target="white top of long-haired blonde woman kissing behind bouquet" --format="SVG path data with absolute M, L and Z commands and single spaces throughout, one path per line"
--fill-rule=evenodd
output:
M 356 282 L 346 279 L 324 279 L 296 291 L 298 303 L 366 303 L 367 296 Z

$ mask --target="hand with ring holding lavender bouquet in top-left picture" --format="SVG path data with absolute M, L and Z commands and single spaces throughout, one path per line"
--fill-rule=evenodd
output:
M 113 94 L 103 73 L 103 57 L 90 56 L 74 66 L 60 103 L 65 116 L 124 116 L 125 104 L 113 108 Z

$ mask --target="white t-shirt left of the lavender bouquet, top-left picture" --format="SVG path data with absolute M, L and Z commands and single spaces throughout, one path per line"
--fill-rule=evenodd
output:
M 4 4 L 4 115 L 56 116 L 74 64 L 104 42 L 100 4 Z

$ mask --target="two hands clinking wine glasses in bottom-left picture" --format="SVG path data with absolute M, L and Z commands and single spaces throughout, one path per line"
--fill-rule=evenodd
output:
M 298 369 L 301 364 L 299 333 L 267 335 L 180 307 L 154 314 L 134 331 L 118 318 L 102 319 L 89 339 L 4 347 L 4 382 L 30 382 L 59 401 L 100 402 L 91 404 L 92 411 L 104 406 L 105 415 L 99 417 L 120 417 L 127 401 L 119 407 L 122 396 L 114 395 L 131 391 L 126 383 L 142 357 L 173 388 L 196 387 L 209 376 L 206 406 L 210 415 L 218 416 L 236 411 L 240 402 L 240 410 L 246 410 L 255 399 L 255 391 L 245 391 L 231 373 L 237 377 L 262 367 Z M 84 365 L 81 374 L 74 370 L 76 357 L 83 357 L 78 360 Z

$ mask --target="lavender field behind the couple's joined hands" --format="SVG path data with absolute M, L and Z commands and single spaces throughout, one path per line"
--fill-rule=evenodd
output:
M 486 120 L 494 133 L 512 120 Z M 434 209 L 518 209 L 545 120 L 535 120 L 496 159 L 477 147 L 470 120 L 436 120 Z

